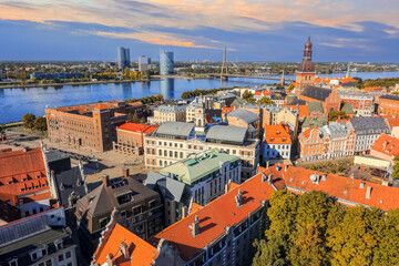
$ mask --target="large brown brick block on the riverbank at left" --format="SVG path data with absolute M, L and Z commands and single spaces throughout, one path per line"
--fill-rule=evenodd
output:
M 115 127 L 125 123 L 127 114 L 142 112 L 141 102 L 111 101 L 45 109 L 45 119 L 51 141 L 104 152 L 112 150 Z

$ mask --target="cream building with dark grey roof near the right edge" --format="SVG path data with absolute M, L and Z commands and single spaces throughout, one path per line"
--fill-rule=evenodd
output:
M 390 135 L 388 124 L 382 117 L 350 119 L 356 134 L 355 153 L 367 154 L 381 133 Z

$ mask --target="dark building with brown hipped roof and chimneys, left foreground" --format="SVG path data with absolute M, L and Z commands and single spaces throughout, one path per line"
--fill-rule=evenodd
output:
M 143 239 L 163 227 L 158 193 L 130 177 L 129 168 L 123 170 L 123 176 L 112 180 L 104 174 L 102 184 L 76 203 L 80 243 L 88 254 L 95 250 L 100 233 L 110 222 L 114 208 L 126 217 L 126 228 Z

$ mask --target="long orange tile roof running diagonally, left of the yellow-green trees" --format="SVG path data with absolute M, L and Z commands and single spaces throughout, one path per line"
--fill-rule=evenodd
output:
M 275 168 L 266 170 L 266 173 L 275 172 Z M 277 181 L 275 186 L 283 188 L 284 184 Z M 243 195 L 241 207 L 236 206 L 235 201 L 238 190 Z M 195 212 L 200 221 L 200 234 L 197 236 L 193 237 L 188 228 L 188 225 L 195 219 L 195 215 L 190 215 L 165 228 L 149 242 L 157 244 L 161 238 L 164 238 L 177 248 L 184 260 L 188 260 L 207 244 L 225 234 L 226 226 L 237 225 L 248 217 L 248 213 L 257 211 L 262 206 L 262 201 L 268 200 L 274 191 L 267 182 L 262 182 L 262 174 L 257 174 Z

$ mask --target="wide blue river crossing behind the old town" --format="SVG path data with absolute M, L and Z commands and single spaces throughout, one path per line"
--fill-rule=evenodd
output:
M 361 79 L 397 78 L 399 76 L 399 72 L 357 72 L 351 75 Z M 286 75 L 286 79 L 295 79 L 295 76 Z M 259 85 L 276 82 L 278 81 L 231 78 L 228 81 L 223 82 L 223 86 Z M 0 123 L 21 121 L 22 115 L 25 113 L 43 115 L 45 106 L 55 108 L 99 101 L 127 100 L 160 93 L 162 93 L 165 99 L 180 99 L 184 91 L 214 89 L 219 86 L 221 81 L 217 79 L 163 79 L 119 84 L 64 85 L 62 88 L 48 86 L 47 89 L 0 89 Z

